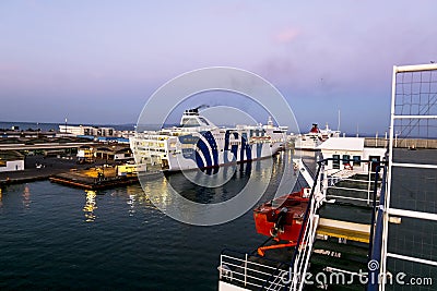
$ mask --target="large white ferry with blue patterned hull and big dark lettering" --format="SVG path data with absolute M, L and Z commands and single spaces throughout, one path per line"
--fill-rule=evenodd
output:
M 184 112 L 178 126 L 138 132 L 130 138 L 135 162 L 160 167 L 164 171 L 208 169 L 251 161 L 275 155 L 286 141 L 286 126 L 216 126 L 199 113 Z

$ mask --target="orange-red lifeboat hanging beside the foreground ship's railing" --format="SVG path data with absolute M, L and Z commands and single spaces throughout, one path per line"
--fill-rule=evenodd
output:
M 257 232 L 276 241 L 296 242 L 303 227 L 308 198 L 304 190 L 264 203 L 253 209 Z

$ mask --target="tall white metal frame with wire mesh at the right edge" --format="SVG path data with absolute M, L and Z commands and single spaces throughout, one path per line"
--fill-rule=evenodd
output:
M 383 204 L 382 250 L 380 274 L 385 276 L 389 268 L 409 272 L 409 276 L 434 274 L 437 278 L 437 256 L 425 252 L 424 244 L 433 245 L 435 230 L 427 226 L 437 221 L 435 207 L 420 207 L 421 204 L 434 205 L 435 186 L 437 185 L 435 158 L 423 157 L 421 150 L 415 150 L 418 144 L 406 144 L 406 141 L 423 141 L 421 147 L 427 147 L 428 142 L 436 142 L 437 124 L 437 64 L 393 66 L 390 112 L 389 169 L 387 177 L 387 193 Z M 427 88 L 427 89 L 424 89 Z M 404 142 L 404 143 L 402 143 Z M 410 147 L 413 151 L 397 149 L 398 145 Z M 435 148 L 435 147 L 433 147 Z M 398 155 L 394 155 L 398 154 Z M 417 163 L 416 163 L 417 162 Z M 430 178 L 422 180 L 423 177 Z M 411 184 L 404 184 L 408 180 Z M 421 184 L 413 182 L 421 181 Z M 423 195 L 423 187 L 433 195 Z M 405 195 L 409 193 L 410 195 Z M 403 203 L 408 198 L 409 203 Z M 397 218 L 401 227 L 390 223 Z M 409 232 L 406 233 L 405 230 Z M 390 241 L 403 240 L 406 247 L 400 247 Z M 389 262 L 391 263 L 390 266 Z M 413 267 L 414 266 L 414 267 Z M 421 290 L 435 290 L 422 287 Z M 379 290 L 386 290 L 381 283 Z

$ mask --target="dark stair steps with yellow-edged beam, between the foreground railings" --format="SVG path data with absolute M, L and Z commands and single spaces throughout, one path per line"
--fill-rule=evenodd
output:
M 326 204 L 319 209 L 308 269 L 315 284 L 306 284 L 304 290 L 365 289 L 359 279 L 363 282 L 366 279 L 361 276 L 367 272 L 371 217 L 364 216 L 362 207 L 347 205 L 343 208 L 338 204 Z M 338 217 L 332 215 L 333 210 Z M 373 209 L 367 210 L 370 214 Z M 356 213 L 361 215 L 354 216 Z

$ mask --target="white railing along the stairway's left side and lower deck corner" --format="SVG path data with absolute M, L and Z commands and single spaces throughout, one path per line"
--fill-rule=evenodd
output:
M 328 160 L 333 160 L 333 158 L 318 161 L 315 182 L 308 197 L 308 207 L 303 218 L 302 225 L 304 227 L 299 231 L 297 246 L 293 253 L 292 260 L 288 263 L 277 262 L 263 257 L 260 258 L 258 255 L 224 250 L 221 254 L 218 266 L 220 280 L 240 286 L 248 290 L 303 290 L 305 286 L 304 279 L 308 269 L 312 253 L 312 243 L 316 239 L 316 230 L 319 222 L 319 217 L 316 213 L 322 202 L 326 201 L 329 181 L 332 181 L 332 178 L 324 171 L 324 165 Z M 370 185 L 368 192 L 373 193 L 373 195 L 370 196 L 370 194 L 368 194 L 368 201 L 369 203 L 373 202 L 375 210 L 378 194 L 379 168 L 373 173 L 375 173 L 375 180 L 370 182 L 365 180 L 365 182 L 368 182 Z M 370 177 L 371 173 L 369 174 L 369 179 Z M 381 184 L 385 184 L 385 177 L 386 170 Z M 383 193 L 385 191 L 382 190 L 381 195 L 383 195 Z M 375 219 L 375 217 L 373 219 Z M 375 220 L 373 220 L 373 222 Z M 233 253 L 234 255 L 229 255 L 228 253 Z M 260 263 L 261 260 L 262 263 Z M 270 264 L 267 265 L 264 262 L 269 262 Z

